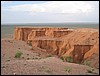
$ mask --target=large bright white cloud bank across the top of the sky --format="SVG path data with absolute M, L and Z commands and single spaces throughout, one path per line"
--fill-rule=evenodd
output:
M 86 1 L 49 1 L 41 4 L 23 4 L 3 8 L 10 11 L 30 11 L 48 13 L 89 13 L 93 7 Z

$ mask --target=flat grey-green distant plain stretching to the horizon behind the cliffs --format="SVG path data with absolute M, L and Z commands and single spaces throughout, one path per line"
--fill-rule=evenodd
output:
M 32 26 L 32 27 L 67 27 L 67 28 L 95 28 L 99 29 L 98 23 L 27 23 L 27 24 L 2 24 L 1 38 L 13 37 L 15 27 Z

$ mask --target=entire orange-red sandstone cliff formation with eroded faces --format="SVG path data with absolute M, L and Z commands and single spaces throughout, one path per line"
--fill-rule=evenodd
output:
M 70 56 L 73 62 L 82 62 L 98 51 L 99 33 L 96 29 L 15 28 L 15 40 L 28 41 L 48 53 Z

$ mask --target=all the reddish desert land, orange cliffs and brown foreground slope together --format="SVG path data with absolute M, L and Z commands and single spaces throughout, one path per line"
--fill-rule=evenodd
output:
M 15 27 L 1 39 L 1 75 L 99 75 L 99 29 Z

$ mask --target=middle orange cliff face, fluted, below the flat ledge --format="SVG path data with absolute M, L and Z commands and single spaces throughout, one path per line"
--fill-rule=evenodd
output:
M 71 48 L 70 44 L 67 44 L 64 40 L 58 38 L 34 38 L 30 43 L 33 48 L 40 47 L 46 49 L 48 53 L 58 56 L 64 55 Z

